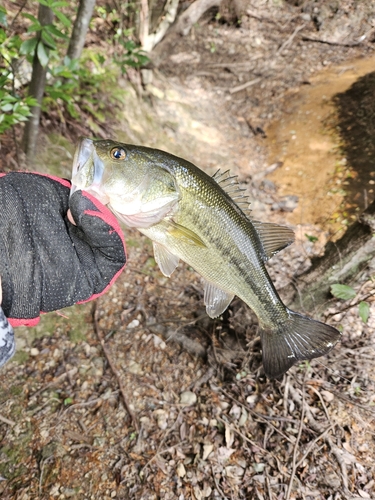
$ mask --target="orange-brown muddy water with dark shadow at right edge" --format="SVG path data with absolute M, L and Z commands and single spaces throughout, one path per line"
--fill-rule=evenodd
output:
M 290 94 L 267 130 L 270 179 L 297 195 L 291 224 L 339 233 L 374 199 L 375 57 L 327 68 Z

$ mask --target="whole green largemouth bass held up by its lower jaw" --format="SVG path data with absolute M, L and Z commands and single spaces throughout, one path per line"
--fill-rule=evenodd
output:
M 234 296 L 256 314 L 269 378 L 329 352 L 334 327 L 290 310 L 265 263 L 294 241 L 292 229 L 252 218 L 248 198 L 229 171 L 213 176 L 167 152 L 82 138 L 73 159 L 72 192 L 88 191 L 120 221 L 153 242 L 161 272 L 182 260 L 202 277 L 204 303 L 220 316 Z

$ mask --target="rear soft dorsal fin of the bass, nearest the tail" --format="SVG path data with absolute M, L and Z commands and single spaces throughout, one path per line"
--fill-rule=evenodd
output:
M 270 259 L 275 253 L 280 252 L 294 241 L 294 231 L 289 227 L 257 220 L 251 222 L 262 242 L 265 260 Z

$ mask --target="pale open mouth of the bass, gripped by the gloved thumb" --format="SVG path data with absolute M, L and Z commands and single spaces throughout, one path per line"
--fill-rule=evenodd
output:
M 109 198 L 103 192 L 103 174 L 104 164 L 96 153 L 94 141 L 81 137 L 74 152 L 70 196 L 82 189 L 107 205 Z

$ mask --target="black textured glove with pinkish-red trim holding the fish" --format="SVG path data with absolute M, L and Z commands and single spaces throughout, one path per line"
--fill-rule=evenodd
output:
M 13 326 L 94 299 L 125 266 L 115 217 L 89 194 L 69 199 L 69 192 L 70 183 L 57 177 L 0 174 L 1 307 Z

